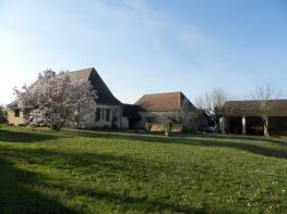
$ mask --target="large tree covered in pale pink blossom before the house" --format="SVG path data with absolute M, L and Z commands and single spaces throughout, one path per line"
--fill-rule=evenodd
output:
M 60 130 L 68 123 L 80 125 L 96 106 L 96 91 L 89 81 L 72 80 L 68 72 L 44 71 L 32 87 L 15 89 L 19 104 L 28 110 L 28 125 L 49 126 Z

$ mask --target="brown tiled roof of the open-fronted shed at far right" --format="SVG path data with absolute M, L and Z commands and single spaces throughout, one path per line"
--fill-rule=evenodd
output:
M 224 105 L 227 116 L 259 116 L 256 106 L 260 101 L 227 101 Z M 287 100 L 270 100 L 270 116 L 287 116 Z

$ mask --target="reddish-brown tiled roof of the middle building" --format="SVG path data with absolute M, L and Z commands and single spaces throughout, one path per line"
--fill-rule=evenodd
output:
M 177 112 L 182 110 L 184 101 L 190 111 L 196 111 L 196 108 L 182 92 L 145 95 L 135 104 L 151 112 Z

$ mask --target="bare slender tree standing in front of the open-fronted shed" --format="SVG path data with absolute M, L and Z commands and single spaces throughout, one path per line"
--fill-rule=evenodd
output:
M 270 136 L 270 123 L 268 117 L 272 116 L 272 111 L 274 109 L 273 100 L 282 97 L 282 91 L 274 88 L 272 85 L 259 85 L 255 90 L 251 93 L 253 101 L 253 109 L 255 114 L 258 114 L 264 125 L 264 136 Z

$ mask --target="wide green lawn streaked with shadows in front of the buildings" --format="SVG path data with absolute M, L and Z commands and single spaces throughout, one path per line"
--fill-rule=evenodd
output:
M 287 141 L 0 127 L 0 213 L 286 213 Z

